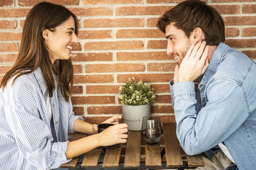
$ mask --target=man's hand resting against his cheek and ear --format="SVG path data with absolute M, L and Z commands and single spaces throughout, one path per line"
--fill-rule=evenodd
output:
M 179 67 L 179 82 L 194 81 L 204 74 L 209 66 L 208 52 L 205 41 L 190 46 Z

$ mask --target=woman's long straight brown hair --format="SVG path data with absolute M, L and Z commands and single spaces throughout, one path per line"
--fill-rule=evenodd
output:
M 74 18 L 75 34 L 77 35 L 77 17 L 64 6 L 39 3 L 29 11 L 22 31 L 17 60 L 12 69 L 4 74 L 0 88 L 4 90 L 13 76 L 15 76 L 14 83 L 19 76 L 32 73 L 40 67 L 49 96 L 52 97 L 53 90 L 58 88 L 66 101 L 70 99 L 74 74 L 72 62 L 70 59 L 56 60 L 52 64 L 51 55 L 42 36 L 45 29 L 55 31 L 55 28 L 69 17 Z M 58 77 L 58 87 L 55 87 L 54 75 Z

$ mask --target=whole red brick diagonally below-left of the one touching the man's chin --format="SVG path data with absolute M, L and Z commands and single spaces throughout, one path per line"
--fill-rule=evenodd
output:
M 87 64 L 86 73 L 145 71 L 144 64 Z

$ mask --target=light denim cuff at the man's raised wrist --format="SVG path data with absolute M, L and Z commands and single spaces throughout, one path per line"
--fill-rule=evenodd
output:
M 171 82 L 170 82 L 171 85 Z M 173 98 L 193 96 L 195 97 L 195 83 L 193 81 L 182 81 L 172 85 Z

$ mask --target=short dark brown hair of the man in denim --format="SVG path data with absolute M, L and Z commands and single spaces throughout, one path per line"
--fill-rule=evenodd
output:
M 225 25 L 220 13 L 202 1 L 188 0 L 177 4 L 159 18 L 157 27 L 165 33 L 165 27 L 171 22 L 175 22 L 174 25 L 188 37 L 196 27 L 200 27 L 207 45 L 219 45 L 225 41 Z

